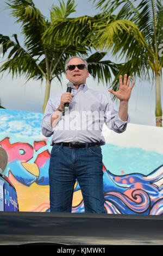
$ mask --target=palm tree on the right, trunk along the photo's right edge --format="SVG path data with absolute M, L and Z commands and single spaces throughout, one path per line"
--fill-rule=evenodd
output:
M 120 70 L 121 74 L 130 74 L 134 77 L 143 77 L 152 83 L 155 81 L 155 117 L 156 126 L 162 127 L 161 108 L 161 74 L 163 58 L 159 54 L 159 48 L 163 41 L 163 5 L 160 0 L 93 0 L 96 7 L 105 13 L 114 13 L 117 19 L 127 19 L 133 22 L 140 31 L 142 40 L 134 41 L 133 35 L 120 36 L 115 40 L 112 54 L 118 53 L 119 57 L 125 57 L 125 63 Z M 100 47 L 110 49 L 109 39 L 101 38 Z M 119 74 L 118 74 L 119 75 Z M 115 77 L 117 79 L 117 77 Z M 116 89 L 116 87 L 114 88 Z

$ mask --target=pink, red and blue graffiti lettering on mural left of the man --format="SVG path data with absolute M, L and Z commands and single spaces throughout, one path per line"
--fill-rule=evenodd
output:
M 33 182 L 39 185 L 48 185 L 50 152 L 48 149 L 44 149 L 36 156 L 36 159 L 34 157 L 34 151 L 47 145 L 45 141 L 34 141 L 34 147 L 32 147 L 29 143 L 16 142 L 11 144 L 9 137 L 5 137 L 0 145 L 8 154 L 8 169 L 18 181 L 26 186 L 30 186 Z

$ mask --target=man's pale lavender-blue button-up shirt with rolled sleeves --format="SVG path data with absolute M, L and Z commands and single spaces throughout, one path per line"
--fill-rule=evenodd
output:
M 111 101 L 109 93 L 89 89 L 87 84 L 81 84 L 79 89 L 72 88 L 74 94 L 65 114 L 57 126 L 52 128 L 51 116 L 60 105 L 61 94 L 49 98 L 42 119 L 42 134 L 52 136 L 52 142 L 98 142 L 105 144 L 102 135 L 103 124 L 109 129 L 121 133 L 126 130 L 127 121 L 120 119 L 118 110 Z

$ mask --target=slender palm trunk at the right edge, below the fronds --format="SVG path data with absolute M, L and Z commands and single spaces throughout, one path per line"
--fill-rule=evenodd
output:
M 160 72 L 155 75 L 155 118 L 156 126 L 162 127 Z

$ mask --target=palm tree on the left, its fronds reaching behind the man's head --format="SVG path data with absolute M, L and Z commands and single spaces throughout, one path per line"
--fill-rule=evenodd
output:
M 40 10 L 37 9 L 32 0 L 8 0 L 8 8 L 16 18 L 16 22 L 21 22 L 22 34 L 24 35 L 24 46 L 21 46 L 17 35 L 14 34 L 12 40 L 7 35 L 0 35 L 0 44 L 3 45 L 3 52 L 8 54 L 8 60 L 0 67 L 0 72 L 8 70 L 12 77 L 25 75 L 26 80 L 46 80 L 45 99 L 42 110 L 45 112 L 49 99 L 51 82 L 57 78 L 61 83 L 61 76 L 65 72 L 65 60 L 78 54 L 85 56 L 89 61 L 89 71 L 93 78 L 107 83 L 110 81 L 111 73 L 117 74 L 120 65 L 112 63 L 110 60 L 102 60 L 106 52 L 97 52 L 94 48 L 92 54 L 92 41 L 88 39 L 86 44 L 80 44 L 87 31 L 78 30 L 80 40 L 76 42 L 73 34 L 68 34 L 68 16 L 75 11 L 74 0 L 59 1 L 60 7 L 56 5 L 51 9 L 51 20 L 48 21 Z M 58 37 L 47 40 L 48 30 L 53 26 L 60 25 L 60 20 L 64 20 L 64 26 L 59 27 Z M 44 36 L 44 37 L 43 37 Z M 46 41 L 44 40 L 46 38 Z M 64 38 L 64 43 L 61 39 Z M 71 40 L 69 40 L 71 39 Z

